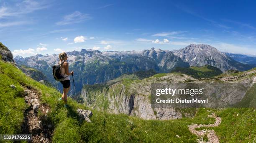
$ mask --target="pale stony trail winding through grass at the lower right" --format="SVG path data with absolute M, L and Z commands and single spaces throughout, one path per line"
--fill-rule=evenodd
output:
M 201 131 L 197 131 L 195 130 L 196 128 L 201 128 L 201 127 L 216 127 L 219 126 L 221 123 L 221 118 L 220 117 L 216 117 L 215 113 L 211 113 L 211 115 L 208 115 L 207 118 L 212 117 L 215 118 L 215 123 L 213 124 L 209 124 L 209 125 L 205 125 L 205 124 L 192 124 L 189 125 L 189 131 L 191 133 L 194 133 L 195 135 L 197 135 L 198 137 L 200 137 L 199 140 L 197 140 L 198 143 L 219 143 L 220 140 L 218 138 L 218 136 L 215 134 L 215 132 L 213 130 L 201 130 Z M 208 141 L 202 141 L 202 137 L 207 135 Z

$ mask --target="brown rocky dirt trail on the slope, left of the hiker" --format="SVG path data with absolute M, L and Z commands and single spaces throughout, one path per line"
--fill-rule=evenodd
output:
M 47 123 L 47 113 L 49 112 L 49 106 L 40 104 L 39 94 L 34 89 L 25 90 L 25 101 L 28 104 L 28 108 L 24 113 L 25 121 L 22 125 L 23 134 L 32 134 L 32 143 L 51 143 L 51 137 L 53 134 L 53 126 L 51 123 Z M 37 114 L 43 114 L 42 118 L 38 118 Z

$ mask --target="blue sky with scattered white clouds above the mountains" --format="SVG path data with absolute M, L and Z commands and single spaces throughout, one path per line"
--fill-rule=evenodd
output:
M 255 5 L 253 0 L 0 0 L 0 42 L 23 57 L 200 43 L 256 56 Z

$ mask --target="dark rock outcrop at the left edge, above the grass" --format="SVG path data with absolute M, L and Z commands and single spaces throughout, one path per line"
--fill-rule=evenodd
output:
M 2 58 L 3 61 L 10 62 L 16 65 L 16 63 L 13 60 L 12 52 L 10 52 L 10 50 L 7 47 L 5 47 L 5 45 L 3 45 L 1 42 L 0 42 L 0 57 Z

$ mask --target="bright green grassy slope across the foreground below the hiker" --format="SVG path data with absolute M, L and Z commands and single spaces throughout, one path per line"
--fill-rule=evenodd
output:
M 70 108 L 64 108 L 57 99 L 61 94 L 23 74 L 11 64 L 0 61 L 0 133 L 20 133 L 20 123 L 26 104 L 23 87 L 29 86 L 41 94 L 41 103 L 48 104 L 51 110 L 48 121 L 54 125 L 55 143 L 74 142 L 196 142 L 187 125 L 191 123 L 213 123 L 207 118 L 211 110 L 200 108 L 195 118 L 155 121 L 141 120 L 123 114 L 114 115 L 92 110 L 92 123 L 79 123 L 77 108 L 84 108 L 69 99 Z M 10 89 L 10 84 L 17 88 Z M 217 111 L 223 122 L 213 128 L 222 142 L 252 142 L 256 138 L 256 112 L 252 108 L 229 108 Z M 239 113 L 238 116 L 237 113 Z M 235 133 L 236 131 L 236 133 Z M 177 138 L 179 135 L 181 138 Z

